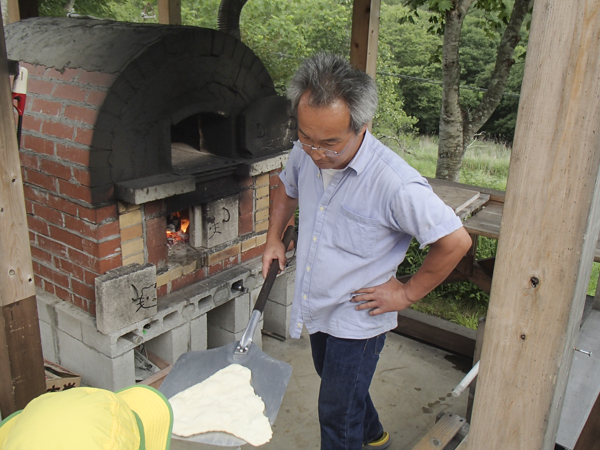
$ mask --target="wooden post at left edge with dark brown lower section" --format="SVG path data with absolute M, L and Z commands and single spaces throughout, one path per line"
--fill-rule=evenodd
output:
M 0 412 L 46 390 L 29 229 L 0 12 Z

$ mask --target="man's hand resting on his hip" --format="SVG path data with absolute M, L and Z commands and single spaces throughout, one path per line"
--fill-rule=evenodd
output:
M 371 316 L 391 311 L 402 311 L 414 303 L 407 297 L 404 286 L 392 277 L 379 286 L 359 289 L 354 292 L 356 295 L 352 301 L 360 303 L 356 306 L 358 311 L 370 309 L 369 314 Z

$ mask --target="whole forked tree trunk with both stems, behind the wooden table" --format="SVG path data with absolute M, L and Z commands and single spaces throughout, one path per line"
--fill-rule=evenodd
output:
M 463 156 L 471 139 L 487 122 L 502 100 L 519 32 L 534 0 L 515 0 L 509 23 L 498 47 L 494 74 L 483 100 L 470 114 L 460 108 L 459 42 L 464 16 L 473 1 L 462 1 L 446 13 L 442 59 L 443 94 L 436 178 L 458 181 Z

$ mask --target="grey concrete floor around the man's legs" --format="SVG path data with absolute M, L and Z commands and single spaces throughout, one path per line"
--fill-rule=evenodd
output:
M 273 426 L 273 438 L 261 448 L 318 449 L 319 377 L 312 364 L 308 335 L 286 342 L 263 336 L 263 351 L 290 363 L 294 371 Z M 392 435 L 392 450 L 412 449 L 442 411 L 464 417 L 467 393 L 457 399 L 449 393 L 470 369 L 470 364 L 467 358 L 388 333 L 371 385 L 371 397 L 384 428 Z M 173 450 L 217 448 L 222 447 L 179 440 L 171 444 Z

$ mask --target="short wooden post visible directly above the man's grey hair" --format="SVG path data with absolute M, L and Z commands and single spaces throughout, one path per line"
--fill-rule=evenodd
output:
M 375 79 L 381 0 L 354 0 L 350 62 Z

